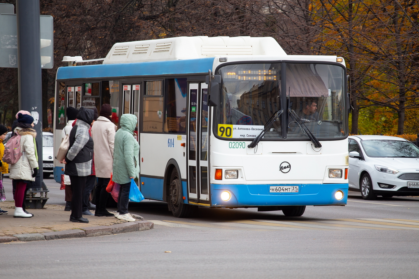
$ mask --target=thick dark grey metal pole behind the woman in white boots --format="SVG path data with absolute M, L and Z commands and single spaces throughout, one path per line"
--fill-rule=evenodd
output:
M 19 109 L 34 118 L 42 186 L 42 79 L 39 0 L 17 0 Z

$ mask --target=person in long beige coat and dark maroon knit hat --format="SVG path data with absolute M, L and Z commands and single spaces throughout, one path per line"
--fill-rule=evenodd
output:
M 111 179 L 112 165 L 114 164 L 114 140 L 116 126 L 111 121 L 111 105 L 103 104 L 100 116 L 92 125 L 92 138 L 94 142 L 93 156 L 95 157 L 95 171 L 98 178 L 96 185 L 96 211 L 95 216 L 114 216 L 106 210 L 106 201 L 109 193 L 106 186 Z

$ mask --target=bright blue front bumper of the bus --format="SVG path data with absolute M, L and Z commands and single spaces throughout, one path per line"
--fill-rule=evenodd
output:
M 298 192 L 270 193 L 272 186 L 299 186 Z M 230 199 L 222 200 L 222 192 Z M 335 193 L 343 198 L 337 200 Z M 228 196 L 228 195 L 227 195 Z M 225 195 L 224 195 L 225 197 Z M 348 184 L 211 184 L 212 207 L 259 207 L 278 205 L 346 205 Z

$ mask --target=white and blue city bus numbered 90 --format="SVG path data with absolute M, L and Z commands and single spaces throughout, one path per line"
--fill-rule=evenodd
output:
M 346 205 L 342 57 L 287 55 L 271 37 L 196 36 L 116 43 L 103 59 L 63 61 L 55 150 L 68 106 L 110 104 L 117 126 L 122 114 L 136 115 L 138 186 L 175 217 L 198 207 L 301 216 L 307 205 Z M 55 160 L 57 182 L 61 173 Z

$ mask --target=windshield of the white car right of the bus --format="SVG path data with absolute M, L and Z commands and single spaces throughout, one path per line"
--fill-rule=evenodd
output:
M 419 148 L 409 141 L 363 140 L 361 144 L 368 157 L 419 158 Z

